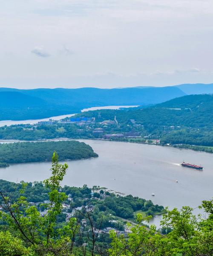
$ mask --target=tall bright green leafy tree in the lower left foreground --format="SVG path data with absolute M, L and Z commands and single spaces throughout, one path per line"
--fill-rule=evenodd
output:
M 35 206 L 29 206 L 23 195 L 11 202 L 9 197 L 0 192 L 4 202 L 2 219 L 18 234 L 26 247 L 32 248 L 38 255 L 48 255 L 48 253 L 59 256 L 72 255 L 73 237 L 79 227 L 76 219 L 71 218 L 64 227 L 55 229 L 56 218 L 61 214 L 62 202 L 67 198 L 65 193 L 60 192 L 60 181 L 63 180 L 67 168 L 66 163 L 64 165 L 58 163 L 58 154 L 54 152 L 52 176 L 43 182 L 50 189 L 49 203 L 44 204 L 47 213 L 43 217 Z M 23 183 L 21 193 L 25 188 L 26 184 Z M 12 241 L 16 240 L 13 238 Z

